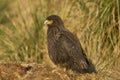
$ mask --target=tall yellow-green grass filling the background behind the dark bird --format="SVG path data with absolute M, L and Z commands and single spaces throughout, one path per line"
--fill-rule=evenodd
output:
M 11 3 L 8 11 L 1 10 L 8 20 L 0 24 L 1 61 L 42 63 L 47 53 L 43 23 L 46 16 L 57 14 L 80 39 L 99 73 L 120 67 L 119 0 L 15 0 Z

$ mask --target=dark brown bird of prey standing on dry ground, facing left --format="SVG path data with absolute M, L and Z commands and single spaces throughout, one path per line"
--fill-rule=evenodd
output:
M 88 60 L 79 39 L 65 28 L 60 16 L 50 15 L 44 24 L 48 27 L 48 54 L 55 65 L 78 73 L 96 72 L 93 66 L 91 69 L 92 63 Z

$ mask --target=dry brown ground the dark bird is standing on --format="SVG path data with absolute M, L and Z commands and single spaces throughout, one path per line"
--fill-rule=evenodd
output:
M 78 74 L 45 64 L 0 63 L 0 80 L 120 80 L 120 72 Z

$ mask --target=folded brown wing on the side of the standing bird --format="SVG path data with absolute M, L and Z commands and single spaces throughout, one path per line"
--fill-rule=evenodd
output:
M 79 40 L 68 30 L 62 31 L 60 36 L 61 45 L 66 50 L 67 54 L 79 65 L 82 69 L 88 68 L 88 60 L 81 47 Z

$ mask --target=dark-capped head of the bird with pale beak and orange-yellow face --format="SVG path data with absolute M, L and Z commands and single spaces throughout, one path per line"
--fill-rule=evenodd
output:
M 60 26 L 63 26 L 63 21 L 62 19 L 57 16 L 57 15 L 51 15 L 51 16 L 48 16 L 44 22 L 45 25 L 47 25 L 48 27 L 60 27 Z

